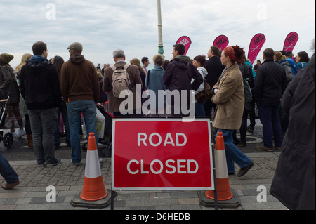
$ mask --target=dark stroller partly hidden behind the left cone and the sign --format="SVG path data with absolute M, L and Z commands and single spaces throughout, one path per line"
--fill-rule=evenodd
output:
M 105 149 L 102 150 L 102 154 L 105 157 L 111 157 L 112 152 L 112 119 L 113 115 L 105 110 L 103 105 L 98 104 L 97 109 L 103 114 L 105 117 L 105 129 L 103 138 L 99 138 L 98 143 L 105 145 Z M 81 150 L 86 151 L 88 147 L 88 143 L 84 143 L 81 146 Z

